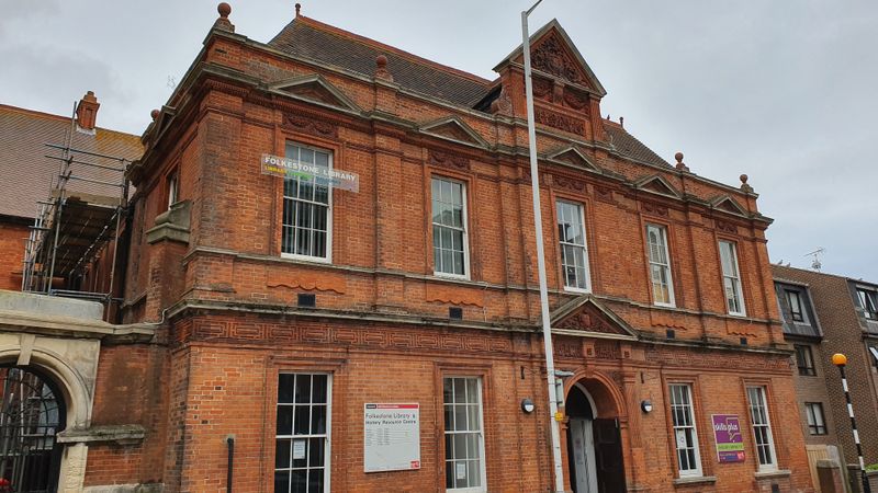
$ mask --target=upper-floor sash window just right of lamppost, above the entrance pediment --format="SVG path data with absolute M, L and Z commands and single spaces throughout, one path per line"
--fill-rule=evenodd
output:
M 558 238 L 561 242 L 561 268 L 564 287 L 589 289 L 588 249 L 585 245 L 583 206 L 558 200 Z

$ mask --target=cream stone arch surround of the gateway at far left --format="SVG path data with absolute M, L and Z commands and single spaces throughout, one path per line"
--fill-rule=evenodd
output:
M 132 443 L 145 434 L 139 425 L 91 426 L 101 341 L 148 342 L 155 335 L 153 324 L 113 325 L 102 316 L 94 301 L 0 290 L 0 364 L 52 379 L 67 409 L 56 438 L 64 446 L 58 492 L 82 491 L 89 443 Z

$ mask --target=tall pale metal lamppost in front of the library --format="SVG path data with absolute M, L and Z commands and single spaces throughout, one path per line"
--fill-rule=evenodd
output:
M 530 9 L 521 12 L 521 48 L 525 55 L 525 96 L 528 111 L 528 148 L 530 153 L 530 187 L 533 192 L 533 222 L 537 236 L 537 270 L 540 278 L 540 313 L 542 318 L 542 339 L 545 349 L 545 372 L 549 386 L 549 427 L 552 432 L 552 462 L 554 466 L 555 492 L 564 491 L 564 469 L 561 465 L 561 432 L 558 420 L 558 390 L 555 387 L 555 363 L 552 349 L 551 314 L 549 313 L 549 289 L 545 283 L 545 252 L 542 236 L 542 211 L 540 209 L 540 173 L 537 168 L 537 130 L 533 123 L 533 84 L 530 80 L 530 33 L 528 15 L 540 4 L 538 0 Z

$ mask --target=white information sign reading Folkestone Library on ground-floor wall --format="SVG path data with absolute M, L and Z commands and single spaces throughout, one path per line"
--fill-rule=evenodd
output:
M 420 469 L 420 404 L 363 409 L 365 472 Z

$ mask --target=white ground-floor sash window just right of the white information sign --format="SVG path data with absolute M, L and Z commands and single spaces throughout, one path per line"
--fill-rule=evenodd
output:
M 485 444 L 482 435 L 482 381 L 444 379 L 446 489 L 483 492 Z

